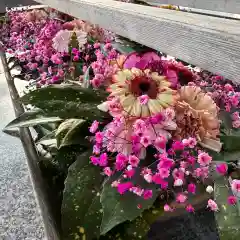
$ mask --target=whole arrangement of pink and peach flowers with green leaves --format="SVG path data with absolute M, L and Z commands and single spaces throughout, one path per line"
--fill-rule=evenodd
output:
M 6 51 L 36 73 L 21 98 L 33 110 L 6 128 L 38 127 L 64 239 L 143 239 L 198 199 L 235 226 L 239 87 L 150 49 L 120 53 L 113 34 L 50 12 L 12 12 L 3 26 Z

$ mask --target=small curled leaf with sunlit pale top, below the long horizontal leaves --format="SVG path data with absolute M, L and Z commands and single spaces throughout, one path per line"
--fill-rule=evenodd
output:
M 89 133 L 88 124 L 82 119 L 68 119 L 61 123 L 56 132 L 57 147 L 79 144 L 90 146 L 86 135 Z

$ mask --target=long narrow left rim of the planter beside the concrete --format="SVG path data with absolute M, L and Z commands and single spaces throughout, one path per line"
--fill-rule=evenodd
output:
M 19 95 L 7 64 L 6 55 L 3 51 L 1 51 L 1 49 L 0 58 L 2 60 L 4 74 L 7 80 L 7 85 L 9 88 L 15 115 L 19 116 L 24 112 L 24 108 L 18 100 Z M 27 164 L 33 183 L 34 194 L 36 196 L 36 200 L 43 218 L 46 237 L 49 240 L 60 240 L 60 230 L 58 229 L 56 221 L 54 220 L 53 211 L 49 204 L 49 197 L 45 190 L 46 183 L 41 175 L 41 170 L 38 166 L 38 153 L 29 128 L 20 128 L 19 136 L 27 158 Z

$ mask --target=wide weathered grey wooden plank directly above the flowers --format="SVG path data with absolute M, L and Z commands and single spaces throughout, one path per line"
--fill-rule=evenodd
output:
M 240 22 L 112 0 L 37 0 L 240 82 Z

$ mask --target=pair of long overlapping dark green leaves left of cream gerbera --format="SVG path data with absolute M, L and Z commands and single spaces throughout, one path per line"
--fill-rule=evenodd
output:
M 101 120 L 107 114 L 98 110 L 97 106 L 105 98 L 105 92 L 63 84 L 32 91 L 24 95 L 21 101 L 42 109 L 47 116 Z

